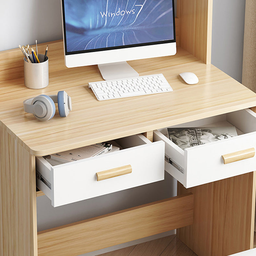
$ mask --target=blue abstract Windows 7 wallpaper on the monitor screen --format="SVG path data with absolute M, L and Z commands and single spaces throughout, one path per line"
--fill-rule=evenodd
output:
M 172 0 L 65 0 L 67 52 L 174 39 Z

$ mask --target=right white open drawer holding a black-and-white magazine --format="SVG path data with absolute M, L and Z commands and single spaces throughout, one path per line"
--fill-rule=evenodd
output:
M 165 142 L 165 170 L 186 188 L 256 170 L 256 114 L 250 109 L 205 118 L 173 127 L 228 126 L 237 129 L 238 136 L 181 149 L 167 137 L 167 128 L 154 131 L 154 141 Z M 239 135 L 240 134 L 240 135 Z M 247 150 L 247 159 L 237 160 L 239 151 Z M 235 153 L 234 153 L 235 152 Z M 222 156 L 234 153 L 234 162 L 224 164 Z

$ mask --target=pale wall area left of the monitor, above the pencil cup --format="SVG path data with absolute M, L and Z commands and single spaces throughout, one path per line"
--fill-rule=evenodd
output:
M 0 51 L 62 39 L 60 0 L 1 0 Z

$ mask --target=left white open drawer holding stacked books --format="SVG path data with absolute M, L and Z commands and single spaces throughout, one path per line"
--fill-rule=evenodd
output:
M 36 157 L 37 187 L 56 207 L 164 179 L 163 142 L 152 143 L 141 134 L 117 142 L 124 149 L 57 166 Z M 132 172 L 97 181 L 96 173 L 124 166 Z

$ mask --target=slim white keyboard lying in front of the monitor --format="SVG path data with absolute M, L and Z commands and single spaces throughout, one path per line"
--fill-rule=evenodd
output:
M 171 92 L 163 74 L 88 83 L 98 100 Z

